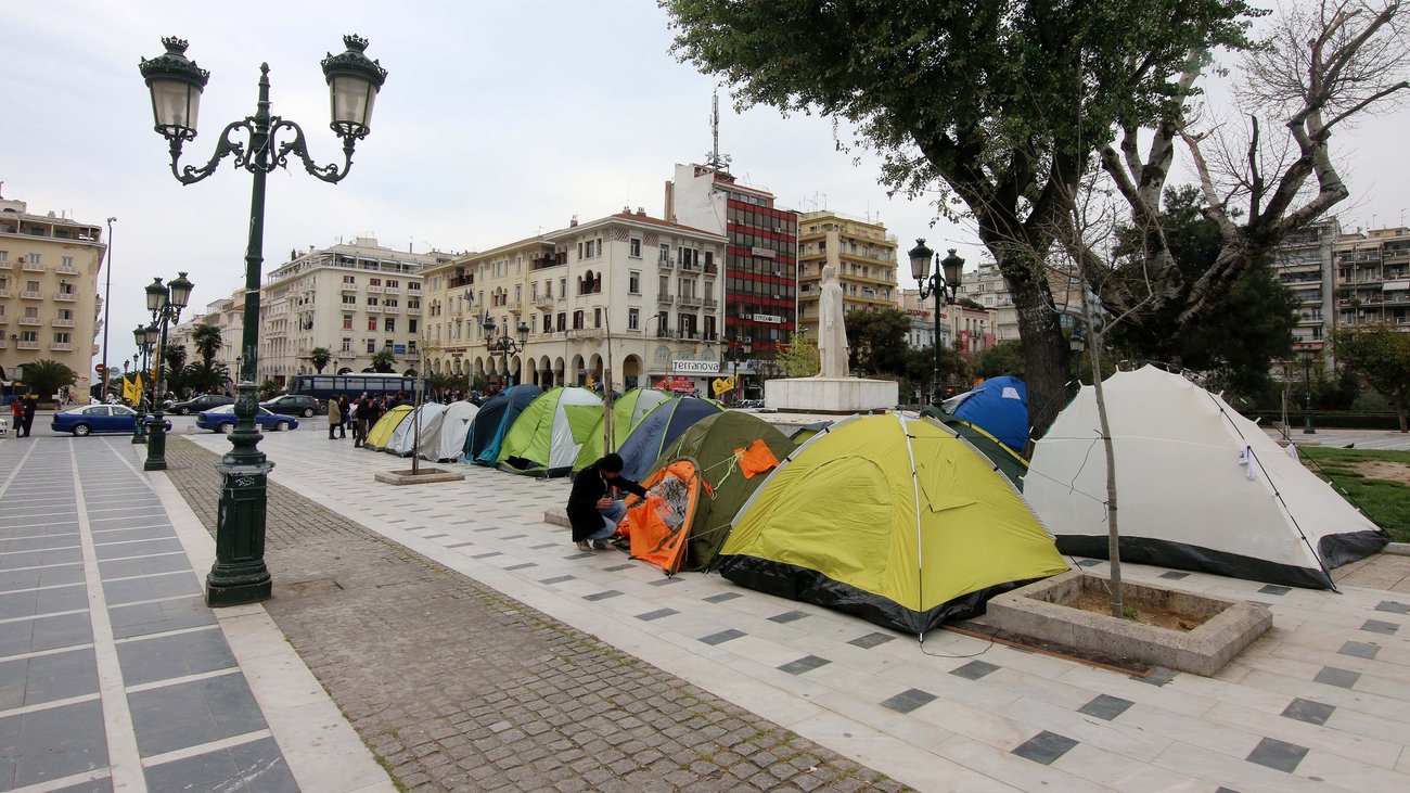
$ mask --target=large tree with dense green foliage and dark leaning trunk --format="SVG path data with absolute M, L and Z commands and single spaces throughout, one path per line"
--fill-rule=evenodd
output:
M 1042 264 L 1083 172 L 1115 127 L 1170 117 L 1189 54 L 1246 47 L 1258 14 L 1244 0 L 660 3 L 675 52 L 739 104 L 846 119 L 893 190 L 939 182 L 938 209 L 969 214 L 1008 279 L 1039 396 L 1069 378 Z M 1034 416 L 1039 432 L 1062 402 Z

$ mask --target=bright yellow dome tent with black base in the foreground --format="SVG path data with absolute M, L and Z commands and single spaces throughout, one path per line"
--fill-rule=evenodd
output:
M 799 446 L 740 508 L 723 577 L 918 634 L 1067 570 L 990 461 L 919 416 L 843 419 Z

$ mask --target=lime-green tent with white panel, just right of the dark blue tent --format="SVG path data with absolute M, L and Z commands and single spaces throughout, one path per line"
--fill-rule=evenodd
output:
M 544 391 L 505 433 L 495 463 L 515 474 L 567 476 L 601 415 L 602 398 L 587 388 Z

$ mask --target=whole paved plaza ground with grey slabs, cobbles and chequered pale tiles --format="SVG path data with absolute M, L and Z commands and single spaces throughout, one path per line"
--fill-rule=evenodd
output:
M 319 425 L 261 446 L 275 598 L 217 612 L 193 570 L 224 437 L 173 437 L 168 474 L 124 437 L 0 446 L 0 790 L 1410 789 L 1394 559 L 1340 594 L 1125 566 L 1275 614 L 1214 679 L 1138 679 L 578 553 L 543 522 L 563 480 L 378 484 L 410 461 Z M 310 724 L 341 731 L 336 782 Z

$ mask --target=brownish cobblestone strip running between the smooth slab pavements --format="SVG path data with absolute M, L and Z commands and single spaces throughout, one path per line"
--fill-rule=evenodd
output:
M 166 457 L 214 531 L 216 456 Z M 268 522 L 265 607 L 407 790 L 907 790 L 274 483 Z

